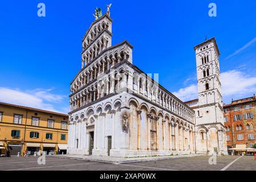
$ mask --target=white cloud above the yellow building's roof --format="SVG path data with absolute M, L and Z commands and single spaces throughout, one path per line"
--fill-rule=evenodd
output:
M 35 89 L 27 92 L 0 87 L 0 101 L 9 104 L 35 107 L 36 109 L 62 112 L 55 109 L 54 105 L 48 102 L 60 102 L 64 96 L 50 93 L 51 90 Z M 66 111 L 66 109 L 64 110 Z

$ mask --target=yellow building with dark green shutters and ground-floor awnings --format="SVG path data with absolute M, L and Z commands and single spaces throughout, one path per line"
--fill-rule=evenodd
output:
M 66 154 L 67 122 L 67 114 L 0 102 L 0 154 Z

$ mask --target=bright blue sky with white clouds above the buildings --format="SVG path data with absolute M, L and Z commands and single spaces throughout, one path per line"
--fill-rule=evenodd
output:
M 38 3 L 46 17 L 37 15 Z M 145 3 L 147 2 L 147 3 Z M 209 3 L 217 17 L 208 15 Z M 94 9 L 112 3 L 112 44 L 128 40 L 133 64 L 159 73 L 181 100 L 197 98 L 193 47 L 216 37 L 224 102 L 256 93 L 256 1 L 3 1 L 0 101 L 68 112 L 81 67 L 82 38 Z

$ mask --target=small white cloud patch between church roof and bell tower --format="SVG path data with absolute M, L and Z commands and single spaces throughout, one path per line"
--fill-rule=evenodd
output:
M 173 92 L 174 96 L 178 97 L 182 101 L 189 101 L 196 99 L 197 96 L 197 85 L 193 84 Z

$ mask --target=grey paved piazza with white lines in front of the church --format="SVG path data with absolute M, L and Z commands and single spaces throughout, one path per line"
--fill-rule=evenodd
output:
M 239 158 L 239 159 L 238 159 Z M 193 170 L 193 171 L 242 171 L 256 170 L 256 160 L 253 156 L 218 156 L 217 164 L 210 165 L 209 156 L 191 158 L 166 159 L 151 162 L 136 162 L 125 164 L 111 164 L 90 162 L 80 159 L 62 159 L 46 156 L 46 164 L 39 165 L 37 157 L 29 158 L 0 158 L 0 170 L 32 170 L 32 171 L 61 171 L 61 170 L 97 170 L 97 171 L 166 171 L 166 170 Z M 237 160 L 236 160 L 237 159 Z M 235 162 L 234 162 L 235 161 Z M 234 162 L 234 163 L 232 163 Z M 230 165 L 230 163 L 232 163 Z

